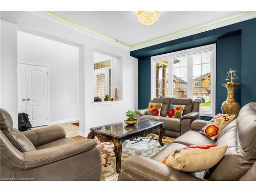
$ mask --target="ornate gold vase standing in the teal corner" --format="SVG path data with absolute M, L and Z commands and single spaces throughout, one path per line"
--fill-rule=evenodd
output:
M 234 90 L 236 87 L 240 86 L 241 83 L 223 83 L 222 86 L 227 88 L 227 100 L 224 101 L 221 105 L 221 110 L 223 114 L 236 115 L 241 109 L 239 102 L 234 99 Z

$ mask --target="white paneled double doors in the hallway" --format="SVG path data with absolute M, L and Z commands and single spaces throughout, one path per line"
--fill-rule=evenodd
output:
M 23 73 L 24 68 L 26 73 Z M 25 94 L 25 101 L 20 96 L 20 101 L 25 105 L 25 108 L 21 108 L 20 112 L 27 113 L 29 115 L 30 123 L 32 127 L 42 126 L 48 124 L 48 79 L 47 79 L 47 67 L 26 65 L 18 63 L 18 71 L 20 70 L 20 78 L 18 72 L 18 91 L 20 89 L 20 95 Z M 24 77 L 25 76 L 25 77 Z M 25 86 L 23 79 L 26 79 Z M 20 81 L 19 81 L 20 79 Z M 20 86 L 19 86 L 20 84 Z M 24 89 L 25 88 L 25 89 Z M 18 96 L 19 97 L 19 96 Z

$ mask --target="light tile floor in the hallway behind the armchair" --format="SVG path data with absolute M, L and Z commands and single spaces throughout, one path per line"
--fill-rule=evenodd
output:
M 49 127 L 49 126 L 53 126 L 53 125 L 58 125 L 58 126 L 61 126 L 66 131 L 66 137 L 75 137 L 75 136 L 78 136 L 78 131 L 79 131 L 79 126 L 71 124 L 71 123 L 75 123 L 75 122 L 78 122 L 78 121 L 70 121 L 70 122 L 66 122 L 66 123 L 38 126 L 38 127 L 32 128 L 32 130 L 41 129 L 41 128 Z

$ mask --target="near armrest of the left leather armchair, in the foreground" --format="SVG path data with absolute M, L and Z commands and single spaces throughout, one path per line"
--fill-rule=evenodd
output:
M 22 153 L 22 158 L 17 157 L 12 153 L 8 153 L 7 148 L 5 148 L 5 150 L 3 151 L 3 155 L 5 155 L 6 159 L 9 159 L 8 167 L 11 170 L 21 172 L 36 167 L 44 166 L 46 164 L 54 163 L 83 152 L 87 152 L 94 148 L 96 145 L 96 140 L 84 139 L 56 147 L 45 148 L 37 151 L 24 152 Z

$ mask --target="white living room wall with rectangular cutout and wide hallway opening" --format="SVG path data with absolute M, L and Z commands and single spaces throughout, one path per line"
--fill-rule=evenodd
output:
M 111 42 L 105 42 L 73 29 L 67 23 L 51 16 L 44 18 L 27 12 L 2 12 L 2 18 L 17 24 L 18 29 L 79 47 L 79 134 L 85 136 L 89 129 L 106 123 L 121 122 L 127 110 L 138 108 L 138 59 L 130 56 L 130 51 Z M 37 14 L 37 13 L 36 13 Z M 41 13 L 38 13 L 41 14 Z M 72 29 L 71 29 L 72 28 Z M 101 50 L 112 57 L 122 59 L 123 103 L 93 105 L 94 101 L 94 52 Z M 16 74 L 16 72 L 15 72 Z M 9 86 L 12 86 L 9 84 Z M 65 109 L 62 109 L 65 110 Z M 101 117 L 101 122 L 99 122 Z

